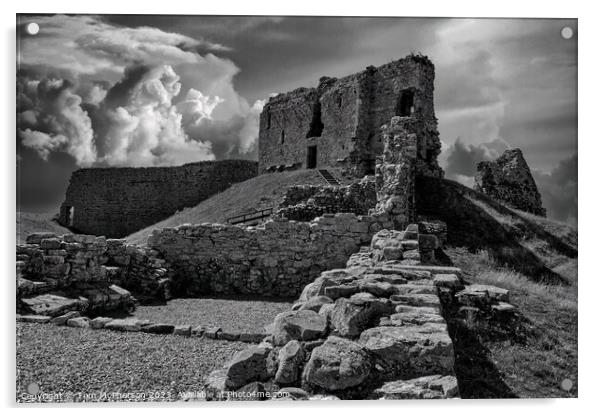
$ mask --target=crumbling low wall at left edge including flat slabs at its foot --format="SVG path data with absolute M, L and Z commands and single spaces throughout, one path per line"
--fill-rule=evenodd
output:
M 92 235 L 36 233 L 17 245 L 17 309 L 58 316 L 130 309 L 169 294 L 165 262 L 152 250 Z M 125 289 L 124 289 L 125 288 Z

